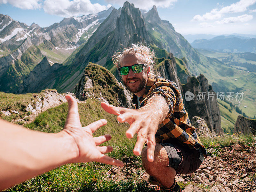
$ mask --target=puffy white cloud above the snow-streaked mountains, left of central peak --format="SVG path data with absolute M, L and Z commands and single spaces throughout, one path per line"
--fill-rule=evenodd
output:
M 46 0 L 44 1 L 44 12 L 51 15 L 58 15 L 61 17 L 71 17 L 79 15 L 88 15 L 90 13 L 97 13 L 111 7 L 100 5 L 98 3 L 92 4 L 90 0 Z

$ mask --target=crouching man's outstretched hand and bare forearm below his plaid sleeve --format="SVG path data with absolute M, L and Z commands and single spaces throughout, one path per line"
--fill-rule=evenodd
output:
M 169 112 L 169 106 L 161 95 L 154 95 L 148 99 L 147 104 L 140 109 L 127 109 L 115 107 L 105 102 L 101 107 L 108 113 L 117 115 L 117 120 L 128 122 L 130 128 L 126 131 L 126 137 L 132 138 L 138 133 L 137 142 L 133 149 L 135 155 L 140 155 L 145 142 L 148 144 L 148 161 L 154 161 L 154 151 L 156 146 L 155 134 L 158 125 L 165 119 Z

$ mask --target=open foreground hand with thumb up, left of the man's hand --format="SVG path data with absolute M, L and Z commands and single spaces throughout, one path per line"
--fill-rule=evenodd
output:
M 62 134 L 72 136 L 76 142 L 78 155 L 74 159 L 74 162 L 97 161 L 105 164 L 123 166 L 122 161 L 103 155 L 113 150 L 111 146 L 97 147 L 111 139 L 109 134 L 100 137 L 92 137 L 92 133 L 101 126 L 107 124 L 107 121 L 105 119 L 100 119 L 92 124 L 82 127 L 76 99 L 71 95 L 67 95 L 66 99 L 68 100 L 68 117 Z

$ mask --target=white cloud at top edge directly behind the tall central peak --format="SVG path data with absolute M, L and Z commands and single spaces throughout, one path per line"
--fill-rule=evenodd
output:
M 112 4 L 119 4 L 123 5 L 126 0 L 106 0 L 109 3 Z M 162 7 L 167 8 L 173 5 L 177 0 L 129 0 L 129 3 L 134 4 L 135 7 L 138 7 L 140 9 L 149 10 L 152 9 L 154 5 L 156 7 Z

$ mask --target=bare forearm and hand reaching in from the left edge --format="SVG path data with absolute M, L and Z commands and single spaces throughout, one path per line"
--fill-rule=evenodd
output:
M 111 146 L 98 147 L 111 139 L 109 134 L 92 137 L 107 121 L 82 127 L 76 100 L 71 95 L 66 99 L 68 117 L 59 133 L 36 132 L 0 119 L 0 191 L 62 164 L 98 161 L 123 166 L 103 155 L 113 150 Z

